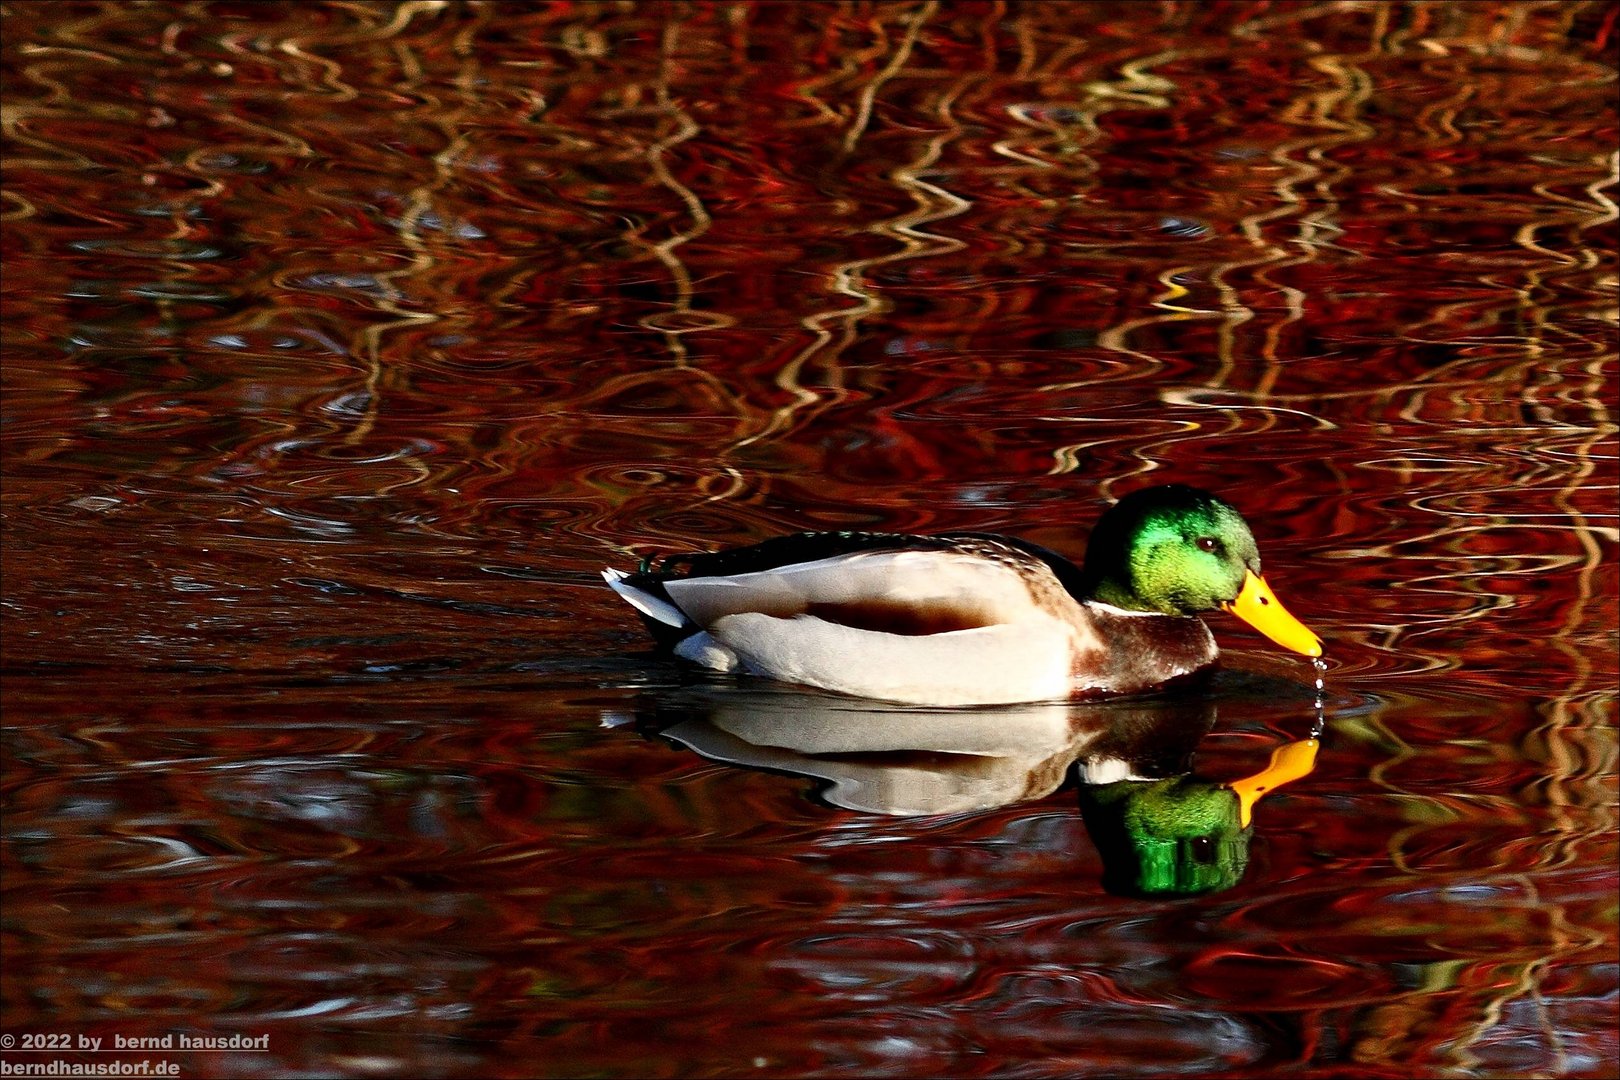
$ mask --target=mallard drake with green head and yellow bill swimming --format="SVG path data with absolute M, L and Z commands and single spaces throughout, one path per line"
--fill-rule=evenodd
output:
M 1097 520 L 1081 565 L 998 533 L 795 533 L 603 578 L 654 643 L 703 669 L 919 706 L 1153 691 L 1210 669 L 1200 615 L 1322 640 L 1272 593 L 1243 515 L 1186 484 Z

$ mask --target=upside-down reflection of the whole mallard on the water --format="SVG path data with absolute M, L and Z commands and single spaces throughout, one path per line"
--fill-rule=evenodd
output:
M 823 780 L 863 813 L 956 814 L 1043 798 L 1072 767 L 1103 887 L 1196 895 L 1243 879 L 1254 803 L 1311 772 L 1317 738 L 1286 743 L 1241 780 L 1192 774 L 1217 717 L 1205 696 L 1108 706 L 885 706 L 805 691 L 688 690 L 648 698 L 637 722 L 705 758 Z

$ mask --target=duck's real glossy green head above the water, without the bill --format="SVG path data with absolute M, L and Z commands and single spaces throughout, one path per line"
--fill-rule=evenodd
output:
M 1108 508 L 1085 546 L 1087 599 L 1163 615 L 1230 604 L 1260 573 L 1254 533 L 1231 504 L 1163 484 Z

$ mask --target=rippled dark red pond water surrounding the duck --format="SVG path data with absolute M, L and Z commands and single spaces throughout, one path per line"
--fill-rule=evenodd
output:
M 1615 11 L 0 3 L 0 1061 L 1614 1075 Z M 1205 895 L 1042 742 L 1132 703 L 852 810 L 598 576 L 1166 481 L 1327 641 Z M 1314 674 L 1209 622 L 1226 780 Z

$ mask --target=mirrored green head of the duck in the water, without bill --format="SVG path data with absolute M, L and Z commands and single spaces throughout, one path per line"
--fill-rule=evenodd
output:
M 1103 857 L 1103 887 L 1121 895 L 1231 889 L 1249 868 L 1254 829 L 1223 784 L 1178 776 L 1081 790 L 1085 829 Z

